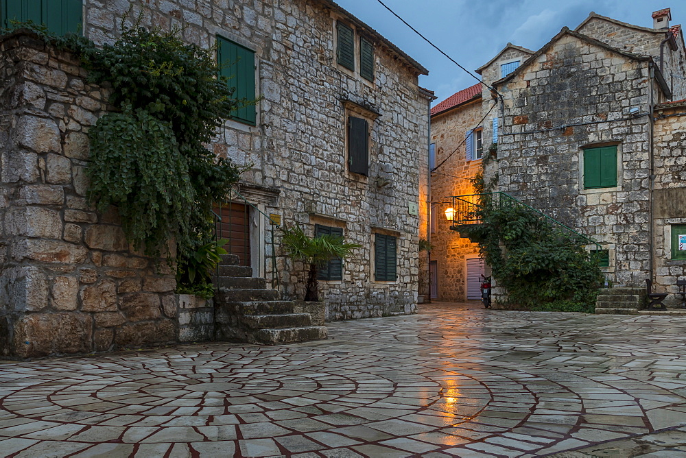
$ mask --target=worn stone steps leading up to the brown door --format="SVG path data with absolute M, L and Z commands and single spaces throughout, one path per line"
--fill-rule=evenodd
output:
M 312 326 L 309 313 L 293 313 L 294 302 L 281 300 L 252 268 L 224 254 L 215 294 L 215 339 L 276 345 L 326 339 L 326 326 Z

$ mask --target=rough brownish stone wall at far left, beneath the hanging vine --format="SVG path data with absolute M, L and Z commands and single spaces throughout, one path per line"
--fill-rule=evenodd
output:
M 174 275 L 86 203 L 86 132 L 106 93 L 69 53 L 0 38 L 0 354 L 176 341 Z

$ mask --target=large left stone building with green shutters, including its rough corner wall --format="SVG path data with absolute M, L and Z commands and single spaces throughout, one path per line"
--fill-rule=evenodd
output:
M 32 19 L 97 44 L 112 43 L 122 20 L 178 28 L 188 43 L 217 46 L 238 96 L 260 97 L 226 121 L 211 145 L 217 156 L 249 167 L 242 197 L 217 210 L 230 215 L 230 226 L 224 219 L 220 229 L 234 234 L 231 251 L 255 276 L 275 283 L 278 272 L 283 296 L 303 294 L 304 266 L 281 255 L 270 219 L 310 234 L 333 231 L 362 248 L 338 270 L 324 269 L 329 320 L 416 311 L 433 97 L 418 86 L 424 67 L 329 0 L 60 5 L 60 14 L 31 10 L 36 17 L 0 10 L 0 20 Z M 123 344 L 115 334 L 125 328 L 133 336 L 156 334 L 132 337 L 132 345 L 178 339 L 173 275 L 128 250 L 115 213 L 97 215 L 84 201 L 84 132 L 106 110 L 106 91 L 84 84 L 69 53 L 31 36 L 5 35 L 1 45 L 3 326 L 43 320 L 34 334 L 82 335 L 74 346 L 43 354 L 106 350 Z M 130 301 L 147 301 L 150 316 L 132 318 Z

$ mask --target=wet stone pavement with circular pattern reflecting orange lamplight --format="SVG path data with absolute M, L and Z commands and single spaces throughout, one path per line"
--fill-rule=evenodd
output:
M 686 457 L 686 316 L 485 311 L 0 362 L 0 455 Z

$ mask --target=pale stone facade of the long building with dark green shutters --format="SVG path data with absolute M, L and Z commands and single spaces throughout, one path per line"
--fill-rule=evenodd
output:
M 418 69 L 378 38 L 374 82 L 338 66 L 335 21 L 352 25 L 356 37 L 375 32 L 328 1 L 137 0 L 132 5 L 131 17 L 141 14 L 143 25 L 183 27 L 190 43 L 209 47 L 220 34 L 255 50 L 257 92 L 263 95 L 257 125 L 228 121 L 213 148 L 237 165 L 252 164 L 243 176 L 248 184 L 281 190 L 274 204 L 263 207 L 265 213 L 310 233 L 314 222 L 340 226 L 346 241 L 362 245 L 344 263 L 342 282 L 321 282 L 328 319 L 415 311 L 421 217 L 410 204 L 419 203 L 420 176 L 427 174 L 428 130 L 428 99 L 417 86 Z M 86 1 L 86 36 L 111 41 L 115 20 L 127 8 L 128 2 Z M 368 178 L 347 171 L 346 101 L 379 114 L 372 123 Z M 374 281 L 375 231 L 399 237 L 397 282 Z M 303 298 L 303 266 L 279 256 L 277 267 L 285 296 Z M 269 261 L 266 272 L 271 280 Z

